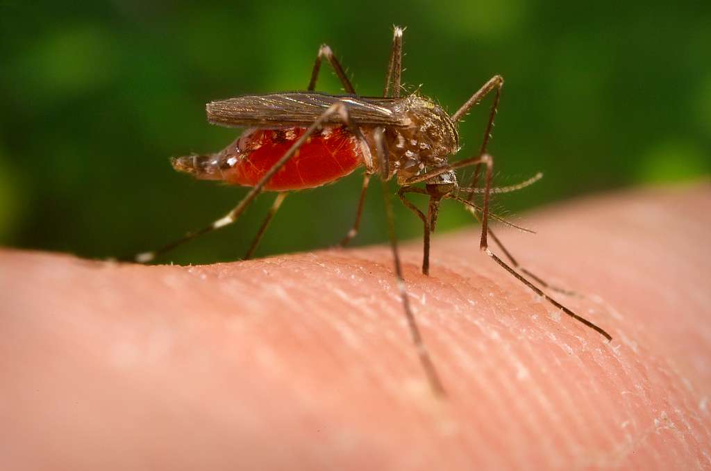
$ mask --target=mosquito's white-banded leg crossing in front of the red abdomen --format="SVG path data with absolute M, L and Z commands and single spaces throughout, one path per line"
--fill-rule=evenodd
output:
M 166 253 L 169 250 L 176 248 L 178 245 L 188 242 L 188 240 L 193 240 L 193 238 L 198 237 L 198 235 L 203 235 L 205 233 L 215 231 L 237 221 L 237 218 L 239 218 L 242 213 L 245 212 L 245 210 L 248 206 L 250 206 L 252 201 L 254 201 L 255 198 L 262 192 L 262 190 L 264 189 L 264 185 L 266 185 L 269 180 L 272 179 L 272 176 L 274 176 L 274 174 L 276 174 L 279 169 L 282 169 L 282 167 L 286 165 L 287 162 L 289 162 L 289 159 L 294 157 L 294 154 L 296 154 L 296 151 L 298 151 L 299 148 L 304 144 L 304 142 L 306 142 L 306 139 L 309 139 L 309 137 L 311 137 L 311 134 L 314 134 L 314 131 L 316 131 L 316 129 L 319 129 L 319 127 L 321 127 L 324 122 L 328 121 L 333 115 L 340 115 L 341 120 L 346 123 L 348 127 L 351 128 L 351 132 L 353 132 L 353 134 L 355 134 L 356 136 L 361 135 L 360 130 L 357 127 L 353 126 L 353 122 L 351 122 L 351 117 L 348 114 L 348 107 L 346 106 L 346 104 L 344 104 L 343 102 L 334 103 L 333 105 L 331 105 L 331 107 L 328 107 L 326 111 L 321 113 L 321 116 L 319 116 L 319 118 L 316 119 L 316 121 L 314 121 L 308 129 L 306 129 L 306 132 L 304 132 L 304 134 L 301 134 L 301 137 L 299 137 L 299 139 L 294 142 L 292 147 L 289 147 L 289 150 L 277 161 L 277 163 L 274 164 L 272 168 L 269 169 L 266 174 L 264 174 L 264 176 L 262 176 L 262 179 L 260 181 L 257 181 L 257 184 L 255 184 L 255 186 L 252 186 L 252 189 L 250 189 L 249 193 L 247 193 L 247 195 L 242 198 L 242 201 L 240 201 L 240 203 L 238 203 L 237 206 L 232 209 L 232 211 L 223 216 L 223 218 L 220 218 L 210 224 L 210 226 L 202 228 L 198 231 L 188 233 L 183 236 L 183 238 L 180 238 L 173 243 L 169 243 L 168 245 L 164 245 L 158 250 L 139 253 L 135 256 L 134 260 L 139 263 L 150 262 L 151 260 L 154 260 L 157 255 Z

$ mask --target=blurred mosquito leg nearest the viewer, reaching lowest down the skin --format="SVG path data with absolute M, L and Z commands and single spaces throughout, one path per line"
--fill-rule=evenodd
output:
M 387 147 L 385 147 L 383 129 L 376 129 L 373 133 L 373 136 L 375 137 L 375 146 L 378 149 L 378 156 L 380 157 L 380 168 L 385 169 L 387 168 L 385 166 L 387 164 Z M 432 358 L 429 356 L 429 350 L 427 350 L 427 346 L 422 341 L 422 334 L 420 334 L 419 332 L 419 327 L 417 327 L 415 315 L 412 314 L 412 309 L 410 307 L 410 299 L 407 297 L 407 290 L 405 289 L 405 279 L 402 277 L 402 264 L 400 263 L 400 253 L 397 250 L 397 236 L 395 235 L 395 221 L 392 216 L 392 206 L 390 205 L 390 193 L 388 193 L 387 191 L 387 181 L 382 176 L 380 179 L 380 185 L 383 187 L 383 202 L 385 203 L 385 216 L 387 218 L 387 234 L 390 238 L 392 259 L 395 263 L 397 287 L 400 289 L 402 308 L 405 310 L 407 326 L 410 328 L 410 336 L 412 337 L 412 342 L 415 344 L 417 356 L 419 356 L 419 362 L 422 364 L 424 373 L 427 375 L 429 386 L 432 388 L 432 391 L 436 396 L 444 396 L 445 391 L 444 387 L 442 386 L 442 381 L 439 379 L 437 369 L 434 368 Z

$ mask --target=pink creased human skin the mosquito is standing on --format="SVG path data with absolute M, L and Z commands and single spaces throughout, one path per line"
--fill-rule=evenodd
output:
M 445 398 L 385 246 L 193 267 L 1 251 L 0 468 L 711 469 L 710 209 L 707 183 L 642 189 L 498 231 L 612 342 L 476 231 L 434 238 L 429 277 L 403 245 Z

